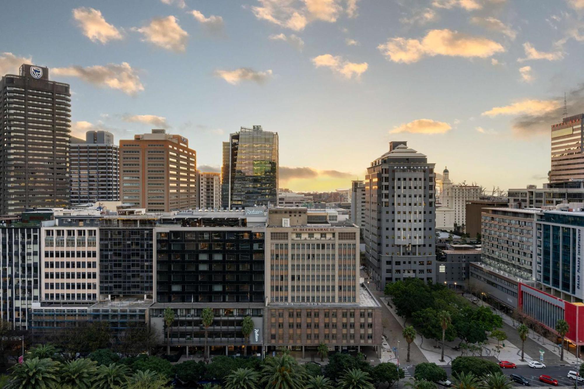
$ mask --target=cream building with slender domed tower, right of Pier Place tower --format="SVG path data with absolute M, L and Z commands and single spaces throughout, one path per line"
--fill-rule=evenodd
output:
M 481 187 L 477 185 L 453 184 L 450 172 L 444 169 L 442 179 L 436 180 L 436 187 L 440 204 L 454 210 L 454 224 L 465 230 L 467 202 L 478 200 L 481 196 Z

